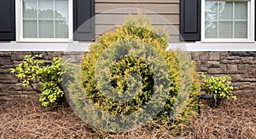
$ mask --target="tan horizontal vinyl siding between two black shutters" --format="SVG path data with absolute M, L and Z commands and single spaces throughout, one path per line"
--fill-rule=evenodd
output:
M 128 14 L 137 14 L 127 13 L 126 8 L 148 10 L 141 13 L 151 16 L 154 26 L 166 26 L 167 32 L 170 32 L 169 41 L 179 40 L 179 0 L 96 0 L 96 34 L 101 35 L 121 24 Z M 162 22 L 156 14 L 168 21 Z

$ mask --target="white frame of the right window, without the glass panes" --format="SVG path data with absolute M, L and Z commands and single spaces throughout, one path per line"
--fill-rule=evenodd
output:
M 236 1 L 236 0 L 234 0 Z M 201 42 L 254 42 L 254 0 L 248 0 L 247 8 L 247 38 L 205 38 L 205 8 L 206 0 L 201 0 Z

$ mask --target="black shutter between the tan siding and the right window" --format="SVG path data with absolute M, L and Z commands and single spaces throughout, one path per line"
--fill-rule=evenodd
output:
M 185 41 L 201 40 L 201 0 L 180 1 L 180 32 Z

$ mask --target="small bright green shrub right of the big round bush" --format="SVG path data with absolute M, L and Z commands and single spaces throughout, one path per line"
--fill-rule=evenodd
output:
M 236 96 L 232 94 L 234 87 L 231 85 L 231 78 L 228 75 L 208 78 L 204 73 L 202 76 L 201 89 L 211 94 L 215 101 L 221 99 L 236 100 Z

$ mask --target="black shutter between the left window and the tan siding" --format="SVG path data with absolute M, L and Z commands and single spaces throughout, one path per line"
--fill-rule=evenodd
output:
M 73 40 L 95 39 L 94 0 L 73 0 Z

